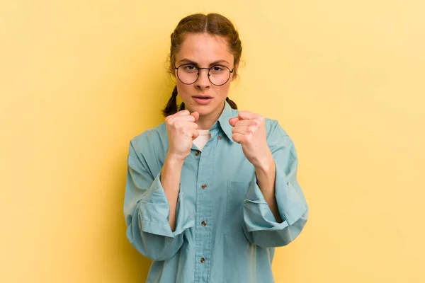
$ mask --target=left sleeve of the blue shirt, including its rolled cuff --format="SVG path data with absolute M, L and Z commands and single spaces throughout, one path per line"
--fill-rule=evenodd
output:
M 130 143 L 128 174 L 125 185 L 124 216 L 127 238 L 142 255 L 152 260 L 173 257 L 183 244 L 183 231 L 195 226 L 192 212 L 179 193 L 176 205 L 176 229 L 169 224 L 169 202 L 161 185 L 161 173 L 153 178 L 145 156 L 136 153 Z

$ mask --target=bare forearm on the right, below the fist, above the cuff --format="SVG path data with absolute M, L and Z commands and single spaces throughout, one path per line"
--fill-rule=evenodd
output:
M 282 223 L 283 220 L 280 217 L 278 211 L 278 204 L 276 202 L 276 165 L 273 156 L 270 156 L 260 166 L 255 167 L 255 173 L 257 178 L 257 185 L 261 190 L 261 193 L 266 200 L 268 207 L 270 207 L 273 216 L 278 223 Z

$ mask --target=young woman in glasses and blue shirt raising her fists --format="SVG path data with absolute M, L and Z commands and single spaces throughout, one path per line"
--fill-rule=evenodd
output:
M 166 120 L 128 156 L 127 236 L 154 260 L 147 282 L 274 282 L 274 248 L 305 226 L 293 141 L 227 97 L 241 53 L 219 14 L 187 16 L 171 34 Z

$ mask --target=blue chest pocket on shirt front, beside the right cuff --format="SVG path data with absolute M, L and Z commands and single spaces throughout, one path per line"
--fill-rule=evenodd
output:
M 244 221 L 244 200 L 250 182 L 227 183 L 227 204 L 225 235 L 246 240 L 242 223 Z

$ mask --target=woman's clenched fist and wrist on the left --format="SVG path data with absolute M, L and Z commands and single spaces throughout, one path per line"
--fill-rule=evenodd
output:
M 167 155 L 183 161 L 190 153 L 193 139 L 199 135 L 198 112 L 182 110 L 165 119 L 166 132 L 169 137 L 169 149 Z

